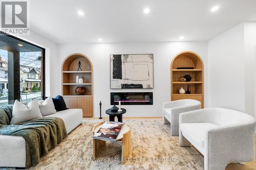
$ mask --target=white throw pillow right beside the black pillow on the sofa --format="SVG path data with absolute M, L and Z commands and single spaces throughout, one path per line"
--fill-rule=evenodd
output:
M 47 116 L 49 114 L 56 113 L 55 106 L 52 101 L 52 97 L 50 96 L 43 102 L 39 102 L 39 109 L 42 114 L 42 116 Z

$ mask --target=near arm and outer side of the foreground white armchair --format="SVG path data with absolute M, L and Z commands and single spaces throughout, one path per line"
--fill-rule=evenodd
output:
M 255 122 L 209 130 L 204 141 L 205 169 L 225 169 L 230 162 L 253 161 Z

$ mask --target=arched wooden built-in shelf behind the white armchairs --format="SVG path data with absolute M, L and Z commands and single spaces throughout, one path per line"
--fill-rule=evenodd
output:
M 180 67 L 193 67 L 194 69 L 178 69 Z M 176 55 L 170 65 L 171 75 L 171 100 L 195 99 L 204 107 L 204 66 L 199 55 L 194 52 L 185 51 Z M 181 82 L 180 78 L 190 75 L 190 82 Z M 179 89 L 187 90 L 190 85 L 190 94 L 180 94 Z

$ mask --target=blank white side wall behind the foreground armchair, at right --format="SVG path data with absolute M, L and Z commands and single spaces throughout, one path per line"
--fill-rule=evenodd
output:
M 256 22 L 244 22 L 208 42 L 209 107 L 256 116 Z

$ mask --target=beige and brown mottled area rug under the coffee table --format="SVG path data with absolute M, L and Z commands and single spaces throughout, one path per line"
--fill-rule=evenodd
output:
M 132 128 L 132 159 L 121 164 L 121 143 L 106 142 L 93 160 L 92 128 L 100 120 L 83 120 L 40 163 L 30 169 L 203 169 L 203 157 L 192 147 L 179 147 L 178 137 L 162 119 L 125 119 Z

